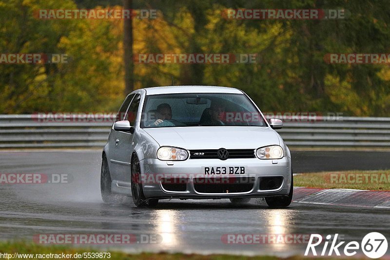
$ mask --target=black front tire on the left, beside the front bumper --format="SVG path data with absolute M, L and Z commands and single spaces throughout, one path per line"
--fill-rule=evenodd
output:
M 131 195 L 134 204 L 137 207 L 155 207 L 158 203 L 157 199 L 146 199 L 143 194 L 141 183 L 141 167 L 136 155 L 133 155 L 131 160 Z

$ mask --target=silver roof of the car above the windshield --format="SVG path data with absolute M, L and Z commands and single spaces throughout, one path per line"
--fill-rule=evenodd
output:
M 242 94 L 237 88 L 220 86 L 161 86 L 143 88 L 146 95 L 175 94 L 175 93 L 232 93 Z

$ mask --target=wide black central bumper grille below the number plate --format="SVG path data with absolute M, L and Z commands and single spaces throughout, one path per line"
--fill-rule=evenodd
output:
M 198 193 L 242 193 L 253 189 L 254 177 L 194 178 L 194 189 Z

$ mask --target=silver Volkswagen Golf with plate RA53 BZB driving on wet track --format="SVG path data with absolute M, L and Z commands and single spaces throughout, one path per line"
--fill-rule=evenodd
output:
M 265 198 L 287 207 L 290 150 L 241 90 L 218 86 L 138 89 L 119 108 L 102 153 L 104 202 L 117 194 L 136 206 L 161 199 Z

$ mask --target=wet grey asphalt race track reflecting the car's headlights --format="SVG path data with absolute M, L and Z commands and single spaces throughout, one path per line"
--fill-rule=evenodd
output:
M 294 172 L 389 169 L 389 152 L 292 152 Z M 303 256 L 304 244 L 226 244 L 224 234 L 339 233 L 361 241 L 377 231 L 390 239 L 389 209 L 292 203 L 268 209 L 262 200 L 161 200 L 155 209 L 131 200 L 115 205 L 100 199 L 100 152 L 1 152 L 1 173 L 72 176 L 62 184 L 0 185 L 0 239 L 32 240 L 37 234 L 144 234 L 159 243 L 110 245 L 129 252 L 170 251 Z M 104 248 L 107 245 L 103 246 Z M 322 247 L 320 248 L 322 249 Z M 361 251 L 360 251 L 361 252 Z M 388 250 L 389 252 L 389 250 Z

